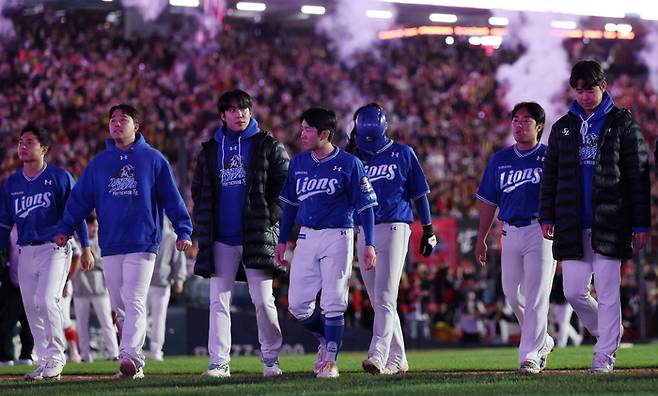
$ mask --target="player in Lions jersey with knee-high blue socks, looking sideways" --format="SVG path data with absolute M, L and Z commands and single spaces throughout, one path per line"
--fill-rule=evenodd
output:
M 374 212 L 377 196 L 359 159 L 334 147 L 336 114 L 322 108 L 299 118 L 306 151 L 290 162 L 281 191 L 286 203 L 276 259 L 284 258 L 293 223 L 301 226 L 290 264 L 290 313 L 320 341 L 317 378 L 338 377 L 336 356 L 345 327 L 349 278 L 352 273 L 354 216 L 364 230 L 365 267 L 374 268 Z M 318 292 L 321 312 L 315 308 Z

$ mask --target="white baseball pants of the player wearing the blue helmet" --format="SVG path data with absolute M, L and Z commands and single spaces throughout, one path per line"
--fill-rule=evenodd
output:
M 410 236 L 411 229 L 406 223 L 375 225 L 377 266 L 371 270 L 367 270 L 365 267 L 363 258 L 365 238 L 361 227 L 357 238 L 361 277 L 375 311 L 368 357 L 375 357 L 384 364 L 392 362 L 401 366 L 406 360 L 404 336 L 397 306 L 400 277 L 404 268 L 404 258 L 409 248 Z

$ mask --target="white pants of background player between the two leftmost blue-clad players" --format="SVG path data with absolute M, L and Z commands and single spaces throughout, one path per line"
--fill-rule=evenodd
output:
M 78 345 L 80 347 L 80 356 L 83 360 L 89 361 L 91 358 L 91 346 L 89 345 L 89 314 L 91 307 L 94 307 L 96 318 L 101 328 L 101 335 L 107 350 L 107 358 L 112 359 L 119 356 L 119 345 L 117 343 L 117 334 L 112 323 L 112 307 L 110 306 L 110 295 L 104 294 L 93 297 L 75 296 L 76 326 L 78 330 Z

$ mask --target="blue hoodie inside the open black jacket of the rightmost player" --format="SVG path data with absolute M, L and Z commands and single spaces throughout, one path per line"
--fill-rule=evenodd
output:
M 578 139 L 580 155 L 580 190 L 581 194 L 581 225 L 583 229 L 592 228 L 592 178 L 596 165 L 596 153 L 599 138 L 605 124 L 606 115 L 612 110 L 614 103 L 607 92 L 594 113 L 587 117 L 585 110 L 575 100 L 569 106 L 569 112 L 581 120 Z

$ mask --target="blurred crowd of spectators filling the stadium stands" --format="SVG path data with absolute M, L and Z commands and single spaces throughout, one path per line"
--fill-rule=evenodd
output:
M 14 22 L 16 36 L 2 39 L 0 51 L 0 180 L 18 166 L 17 135 L 28 122 L 54 135 L 47 160 L 79 176 L 105 147 L 108 109 L 126 102 L 142 112 L 141 132 L 169 158 L 189 203 L 187 186 L 200 144 L 219 125 L 217 98 L 241 88 L 254 97 L 261 128 L 284 142 L 291 155 L 301 149 L 298 117 L 304 109 L 334 109 L 343 127 L 337 136 L 342 146 L 354 110 L 377 101 L 389 115 L 391 136 L 414 147 L 421 159 L 433 216 L 460 219 L 477 216 L 482 170 L 506 144 L 510 109 L 495 71 L 521 51 L 484 51 L 462 41 L 447 45 L 442 38 L 419 37 L 381 42 L 377 51 L 355 55 L 348 67 L 313 32 L 252 22 L 227 24 L 216 38 L 203 41 L 186 24 L 167 37 L 125 37 L 121 26 L 99 15 L 33 15 Z M 632 110 L 653 148 L 658 93 L 646 69 L 624 55 L 632 45 L 638 44 L 565 42 L 571 60 L 596 56 L 608 66 L 615 103 Z M 566 83 L 564 92 L 566 104 Z M 658 198 L 655 181 L 652 195 Z M 650 245 L 650 252 L 658 249 L 655 228 Z M 444 342 L 509 340 L 504 323 L 514 320 L 503 300 L 498 263 L 481 269 L 473 261 L 457 269 L 409 263 L 399 297 L 408 335 Z M 658 337 L 658 281 L 650 265 L 655 262 L 655 253 L 647 255 L 642 275 L 648 334 Z M 280 283 L 277 293 L 285 306 L 285 280 Z M 626 337 L 633 339 L 639 292 L 630 262 L 622 289 Z M 372 313 L 358 276 L 351 297 L 349 320 L 368 326 Z

